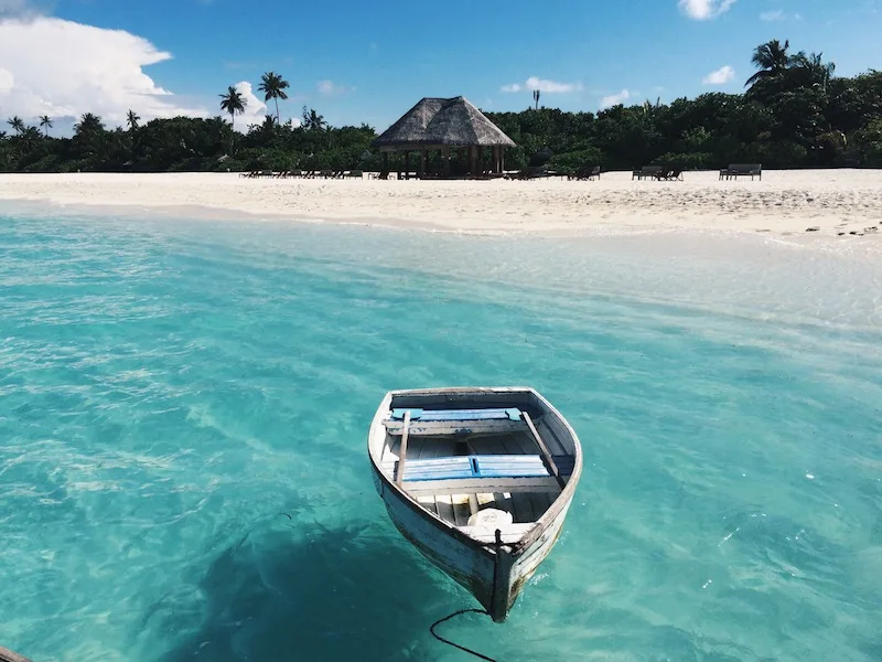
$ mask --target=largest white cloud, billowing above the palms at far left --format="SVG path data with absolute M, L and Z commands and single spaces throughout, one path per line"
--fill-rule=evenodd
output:
M 19 0 L 0 0 L 0 107 L 6 116 L 32 120 L 95 113 L 122 124 L 131 108 L 154 117 L 215 115 L 160 87 L 143 67 L 171 58 L 149 41 L 50 17 L 2 18 L 25 11 Z

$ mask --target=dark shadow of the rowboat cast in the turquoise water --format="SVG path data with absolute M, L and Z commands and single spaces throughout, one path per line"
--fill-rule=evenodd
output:
M 300 540 L 291 527 L 273 528 L 214 560 L 198 585 L 201 622 L 176 620 L 189 634 L 162 662 L 412 661 L 442 652 L 428 627 L 464 594 L 407 546 L 364 526 L 320 527 Z

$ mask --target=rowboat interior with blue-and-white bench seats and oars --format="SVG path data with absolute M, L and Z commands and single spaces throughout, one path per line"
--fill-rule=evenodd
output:
M 505 543 L 523 537 L 560 495 L 577 452 L 567 426 L 530 392 L 394 397 L 377 437 L 389 480 L 481 542 L 497 528 Z

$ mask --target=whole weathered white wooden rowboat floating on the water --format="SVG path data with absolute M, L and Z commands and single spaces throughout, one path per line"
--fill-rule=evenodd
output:
M 394 391 L 367 447 L 401 535 L 503 622 L 582 473 L 567 420 L 533 388 Z

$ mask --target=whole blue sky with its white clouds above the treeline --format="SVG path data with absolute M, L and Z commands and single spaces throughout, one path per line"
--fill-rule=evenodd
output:
M 282 121 L 305 105 L 381 131 L 424 96 L 521 110 L 537 88 L 596 111 L 738 93 L 770 39 L 839 75 L 882 68 L 880 31 L 882 0 L 0 0 L 0 118 L 63 134 L 87 111 L 208 117 L 233 85 L 244 130 L 268 111 L 268 71 L 291 84 Z

